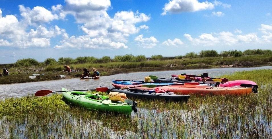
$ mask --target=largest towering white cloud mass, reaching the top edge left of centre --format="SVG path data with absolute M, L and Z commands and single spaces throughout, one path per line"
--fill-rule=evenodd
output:
M 131 34 L 149 28 L 147 25 L 136 26 L 150 20 L 150 15 L 139 11 L 119 11 L 111 18 L 107 13 L 110 7 L 109 0 L 65 0 L 65 2 L 64 6 L 52 8 L 53 11 L 60 11 L 63 15 L 72 14 L 77 23 L 83 24 L 80 28 L 85 34 L 67 36 L 54 48 L 127 48 L 125 43 Z

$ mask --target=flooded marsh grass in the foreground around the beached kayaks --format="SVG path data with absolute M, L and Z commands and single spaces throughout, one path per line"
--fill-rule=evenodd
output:
M 272 70 L 235 72 L 259 93 L 191 96 L 188 103 L 136 100 L 127 117 L 67 106 L 61 95 L 0 102 L 3 138 L 272 138 Z M 48 102 L 46 101 L 48 100 Z M 7 109 L 7 107 L 9 109 Z M 18 111 L 18 112 L 17 112 Z

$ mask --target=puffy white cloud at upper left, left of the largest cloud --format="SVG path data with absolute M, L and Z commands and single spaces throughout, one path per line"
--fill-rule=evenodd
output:
M 57 14 L 52 14 L 51 11 L 40 6 L 30 9 L 29 7 L 19 5 L 19 11 L 28 24 L 46 23 L 58 19 Z

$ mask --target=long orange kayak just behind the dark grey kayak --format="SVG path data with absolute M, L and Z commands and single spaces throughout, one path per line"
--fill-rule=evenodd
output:
M 141 85 L 118 85 L 112 84 L 114 87 L 137 87 L 137 89 L 153 90 L 154 88 L 141 87 Z M 168 85 L 160 86 L 157 89 L 164 89 L 166 91 L 174 92 L 178 95 L 247 95 L 252 92 L 251 87 L 212 87 L 206 85 Z

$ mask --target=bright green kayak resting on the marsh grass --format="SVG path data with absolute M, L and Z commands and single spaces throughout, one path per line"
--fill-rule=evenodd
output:
M 137 112 L 137 103 L 133 101 L 133 104 L 130 103 L 123 103 L 121 101 L 111 101 L 109 104 L 102 103 L 102 100 L 97 100 L 98 96 L 104 101 L 108 101 L 107 96 L 102 95 L 95 95 L 86 92 L 79 92 L 79 91 L 69 91 L 67 89 L 62 89 L 63 97 L 69 103 L 74 105 L 78 105 L 84 107 L 86 109 L 96 110 L 96 111 L 108 111 L 108 112 L 117 112 L 117 113 L 125 113 L 131 114 L 131 111 Z

